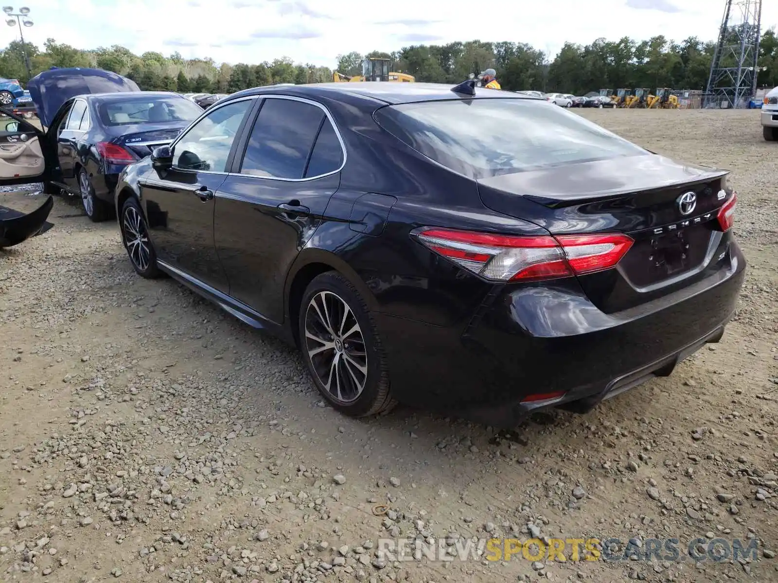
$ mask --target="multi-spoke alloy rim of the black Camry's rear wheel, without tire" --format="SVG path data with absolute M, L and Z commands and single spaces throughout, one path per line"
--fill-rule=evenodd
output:
M 333 292 L 310 299 L 305 346 L 319 382 L 338 403 L 352 403 L 367 382 L 365 338 L 349 305 Z

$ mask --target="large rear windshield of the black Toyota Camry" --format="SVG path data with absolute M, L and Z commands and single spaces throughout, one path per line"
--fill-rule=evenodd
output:
M 401 103 L 377 122 L 415 150 L 475 179 L 645 154 L 603 127 L 538 99 Z

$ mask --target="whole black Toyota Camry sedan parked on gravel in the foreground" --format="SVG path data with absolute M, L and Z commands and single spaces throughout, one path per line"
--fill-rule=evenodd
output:
M 248 89 L 116 189 L 138 274 L 296 344 L 338 410 L 503 427 L 717 342 L 735 199 L 727 171 L 468 82 Z

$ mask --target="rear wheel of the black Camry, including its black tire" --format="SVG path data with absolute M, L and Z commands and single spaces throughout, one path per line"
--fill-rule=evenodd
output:
M 326 302 L 326 310 L 322 302 Z M 347 306 L 350 316 L 346 313 L 344 317 L 342 305 Z M 335 325 L 321 326 L 322 318 Z M 336 410 L 351 417 L 368 417 L 386 413 L 397 404 L 391 397 L 387 358 L 370 311 L 362 295 L 337 271 L 318 275 L 306 288 L 298 330 L 308 372 Z M 308 330 L 323 340 L 311 339 Z M 334 337 L 329 332 L 335 332 Z M 327 344 L 332 347 L 321 349 Z M 310 351 L 316 348 L 320 350 L 312 356 Z M 325 377 L 328 379 L 323 381 Z

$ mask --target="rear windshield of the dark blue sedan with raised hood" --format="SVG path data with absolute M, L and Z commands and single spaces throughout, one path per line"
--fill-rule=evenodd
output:
M 202 107 L 181 96 L 131 97 L 98 103 L 97 113 L 103 125 L 156 124 L 165 121 L 191 121 Z

